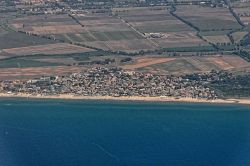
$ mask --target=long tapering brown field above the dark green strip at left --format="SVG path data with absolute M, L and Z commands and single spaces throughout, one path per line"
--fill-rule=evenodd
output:
M 3 49 L 4 52 L 13 55 L 36 55 L 36 54 L 69 54 L 92 51 L 89 48 L 74 46 L 65 43 L 47 44 L 20 48 Z

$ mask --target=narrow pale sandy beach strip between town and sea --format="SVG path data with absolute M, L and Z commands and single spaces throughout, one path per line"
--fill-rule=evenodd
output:
M 50 95 L 50 96 L 33 96 L 30 94 L 7 94 L 0 93 L 0 97 L 6 98 L 31 98 L 31 99 L 70 99 L 70 100 L 115 100 L 115 101 L 145 101 L 145 102 L 184 102 L 184 103 L 211 103 L 211 104 L 247 104 L 250 105 L 249 99 L 195 99 L 195 98 L 175 98 L 175 97 L 142 97 L 142 96 L 75 96 L 71 94 Z

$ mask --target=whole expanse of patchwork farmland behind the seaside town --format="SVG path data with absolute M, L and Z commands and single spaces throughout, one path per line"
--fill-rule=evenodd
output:
M 238 56 L 250 48 L 247 2 L 51 3 L 18 2 L 18 12 L 1 13 L 0 78 L 93 66 L 160 74 L 250 69 Z

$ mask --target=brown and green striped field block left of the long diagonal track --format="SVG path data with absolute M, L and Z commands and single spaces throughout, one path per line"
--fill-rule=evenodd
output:
M 111 51 L 135 52 L 156 49 L 140 33 L 120 19 L 105 14 L 42 15 L 12 21 L 17 30 L 37 35 L 49 35 L 68 43 L 81 43 Z

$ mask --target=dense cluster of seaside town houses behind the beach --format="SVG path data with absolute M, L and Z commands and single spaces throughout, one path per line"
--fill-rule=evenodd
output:
M 75 96 L 167 96 L 215 99 L 206 80 L 182 76 L 92 68 L 64 76 L 44 76 L 28 81 L 0 81 L 0 93 Z

